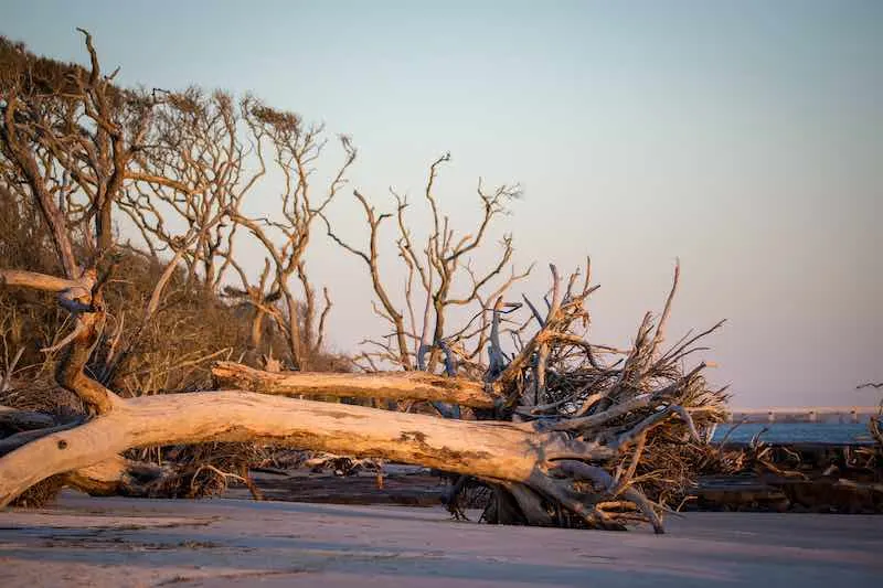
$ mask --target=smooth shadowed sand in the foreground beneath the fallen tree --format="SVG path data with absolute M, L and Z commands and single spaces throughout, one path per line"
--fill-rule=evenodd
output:
M 669 534 L 440 507 L 89 499 L 0 513 L 0 586 L 879 586 L 880 517 L 689 513 Z

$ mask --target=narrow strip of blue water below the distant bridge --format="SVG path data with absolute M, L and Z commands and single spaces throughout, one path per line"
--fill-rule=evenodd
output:
M 760 437 L 768 443 L 870 443 L 868 425 L 857 423 L 745 423 L 743 425 L 717 425 L 712 442 L 721 441 L 733 427 L 727 442 L 747 443 L 755 435 L 767 429 Z

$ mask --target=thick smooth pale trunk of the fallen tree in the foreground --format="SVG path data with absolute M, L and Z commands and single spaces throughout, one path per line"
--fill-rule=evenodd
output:
M 85 425 L 0 458 L 0 506 L 50 475 L 116 459 L 127 449 L 255 440 L 514 482 L 536 480 L 546 459 L 585 451 L 561 436 L 506 423 L 446 420 L 247 392 L 147 396 L 123 400 Z M 603 448 L 597 456 L 609 457 Z

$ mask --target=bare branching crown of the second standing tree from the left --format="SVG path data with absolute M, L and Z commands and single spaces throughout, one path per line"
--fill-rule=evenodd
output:
M 148 140 L 162 148 L 141 151 L 134 163 L 146 175 L 174 179 L 187 190 L 131 182 L 120 207 L 153 257 L 160 247 L 173 254 L 161 284 L 183 260 L 191 279 L 200 268 L 203 287 L 214 292 L 235 263 L 236 224 L 231 214 L 266 172 L 259 137 L 244 137 L 241 128 L 241 111 L 247 111 L 252 100 L 237 106 L 228 94 L 205 96 L 198 88 L 158 96 Z M 150 310 L 156 303 L 151 298 Z

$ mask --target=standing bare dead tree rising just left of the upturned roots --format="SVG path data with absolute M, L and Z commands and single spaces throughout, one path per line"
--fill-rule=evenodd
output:
M 406 211 L 407 199 L 393 191 L 396 211 L 377 214 L 368 199 L 359 191 L 353 195 L 365 214 L 369 227 L 366 248 L 358 248 L 331 229 L 327 223 L 329 236 L 341 247 L 361 258 L 368 266 L 371 285 L 380 306 L 374 306 L 377 316 L 390 324 L 390 334 L 385 338 L 365 341 L 370 350 L 362 356 L 393 363 L 403 370 L 436 371 L 439 357 L 448 356 L 448 368 L 451 362 L 475 362 L 488 342 L 490 330 L 489 302 L 501 297 L 509 287 L 526 277 L 530 268 L 523 272 L 511 268 L 508 277 L 502 277 L 512 258 L 512 237 L 502 237 L 502 250 L 490 268 L 476 270 L 468 260 L 470 254 L 477 253 L 486 245 L 490 227 L 494 218 L 506 212 L 509 201 L 520 194 L 517 185 L 501 185 L 487 191 L 479 180 L 477 194 L 481 203 L 481 217 L 478 226 L 470 234 L 459 235 L 451 226 L 450 217 L 444 214 L 435 193 L 438 169 L 450 160 L 450 154 L 438 158 L 429 167 L 423 195 L 430 214 L 430 232 L 423 244 L 418 244 L 409 227 Z M 390 289 L 384 285 L 380 268 L 379 237 L 384 221 L 394 220 L 398 237 L 396 247 L 398 258 L 404 263 L 407 279 L 401 301 L 394 301 Z M 459 280 L 468 276 L 467 280 Z M 416 282 L 416 285 L 415 285 Z M 489 289 L 496 285 L 496 289 Z M 457 288 L 462 289 L 462 293 Z M 460 307 L 476 312 L 476 321 L 468 321 L 465 327 L 450 329 L 447 320 L 453 308 Z M 417 313 L 419 311 L 419 314 Z M 471 349 L 469 349 L 471 348 Z

